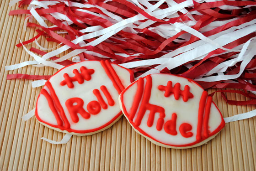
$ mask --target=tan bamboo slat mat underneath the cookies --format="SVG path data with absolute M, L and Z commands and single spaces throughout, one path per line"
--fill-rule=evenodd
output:
M 61 140 L 63 133 L 27 122 L 21 116 L 35 107 L 41 88 L 32 88 L 28 80 L 6 80 L 8 73 L 52 75 L 49 67 L 23 67 L 6 72 L 5 66 L 32 60 L 25 50 L 15 45 L 36 35 L 34 29 L 23 30 L 24 15 L 8 16 L 8 0 L 0 2 L 0 171 L 83 171 L 83 170 L 195 170 L 255 171 L 256 118 L 226 124 L 208 144 L 187 150 L 166 149 L 138 135 L 122 117 L 111 128 L 91 136 L 73 136 L 65 145 L 52 145 L 43 140 Z M 38 39 L 43 47 L 55 47 L 45 37 Z M 27 48 L 34 44 L 27 45 Z M 210 92 L 214 89 L 209 90 Z M 229 99 L 245 100 L 227 94 Z M 224 117 L 256 109 L 256 106 L 226 104 L 220 94 L 213 96 Z

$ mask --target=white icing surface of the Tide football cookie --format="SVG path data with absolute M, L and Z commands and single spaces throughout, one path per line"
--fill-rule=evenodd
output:
M 160 117 L 159 113 L 155 114 L 154 124 L 149 127 L 147 125 L 147 121 L 149 118 L 149 110 L 146 111 L 139 128 L 143 130 L 146 134 L 153 137 L 155 140 L 160 141 L 164 144 L 171 144 L 171 145 L 186 145 L 196 141 L 197 135 L 197 122 L 198 122 L 198 109 L 199 109 L 199 101 L 201 95 L 203 93 L 203 88 L 199 87 L 196 83 L 189 82 L 186 78 L 177 77 L 174 75 L 168 74 L 152 74 L 152 89 L 151 89 L 151 97 L 149 99 L 149 104 L 155 104 L 161 106 L 165 109 L 165 122 L 171 120 L 171 115 L 173 113 L 177 114 L 176 120 L 176 131 L 177 135 L 170 135 L 165 132 L 164 127 L 162 130 L 158 131 L 156 129 L 157 120 Z M 165 91 L 160 91 L 158 89 L 159 85 L 167 85 L 167 82 L 172 82 L 172 87 L 176 83 L 181 84 L 181 90 L 184 90 L 185 85 L 190 87 L 190 92 L 193 94 L 193 98 L 189 98 L 187 102 L 184 102 L 182 96 L 178 100 L 174 98 L 174 95 L 171 94 L 169 97 L 165 97 Z M 144 88 L 146 84 L 146 78 L 144 78 Z M 130 108 L 133 104 L 133 100 L 136 90 L 138 87 L 138 82 L 129 86 L 127 91 L 123 93 L 123 104 L 125 105 L 125 109 L 130 112 Z M 140 104 L 139 104 L 140 106 Z M 133 122 L 136 120 L 138 116 L 138 111 L 133 118 Z M 210 116 L 209 116 L 209 130 L 212 132 L 214 131 L 219 124 L 221 123 L 221 115 L 219 110 L 216 108 L 214 104 L 211 106 Z M 185 138 L 181 135 L 179 131 L 179 127 L 182 123 L 188 123 L 192 125 L 191 132 L 193 133 L 192 137 Z M 135 128 L 136 129 L 136 128 Z

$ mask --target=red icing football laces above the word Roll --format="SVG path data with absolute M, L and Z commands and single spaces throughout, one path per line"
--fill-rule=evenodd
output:
M 80 67 L 81 73 L 77 69 L 73 70 L 73 73 L 75 74 L 74 77 L 69 77 L 69 74 L 64 73 L 63 77 L 64 80 L 60 82 L 60 85 L 64 86 L 67 84 L 69 88 L 74 88 L 74 81 L 77 81 L 78 83 L 82 84 L 84 83 L 84 80 L 89 81 L 91 80 L 91 74 L 94 73 L 94 69 L 87 69 L 86 67 L 82 66 Z

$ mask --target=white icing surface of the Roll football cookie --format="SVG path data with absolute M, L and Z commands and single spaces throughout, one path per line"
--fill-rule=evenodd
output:
M 60 85 L 60 82 L 64 80 L 63 74 L 68 73 L 69 77 L 74 77 L 75 74 L 73 73 L 74 69 L 77 69 L 80 73 L 80 67 L 87 67 L 87 69 L 94 69 L 94 73 L 91 74 L 91 80 L 86 81 L 84 80 L 84 83 L 79 84 L 77 81 L 72 82 L 74 84 L 74 88 L 68 88 L 67 85 Z M 112 67 L 118 74 L 120 80 L 123 83 L 123 86 L 126 87 L 128 84 L 130 84 L 130 73 L 127 69 L 123 67 L 119 67 L 115 64 L 112 64 Z M 120 108 L 118 104 L 118 92 L 113 87 L 113 83 L 110 80 L 110 78 L 105 73 L 104 68 L 101 66 L 101 63 L 98 61 L 85 61 L 85 62 L 79 62 L 77 64 L 71 65 L 69 67 L 66 67 L 59 71 L 59 73 L 53 75 L 49 79 L 49 82 L 52 84 L 53 89 L 55 90 L 55 93 L 57 97 L 59 98 L 60 104 L 62 105 L 65 115 L 70 123 L 70 128 L 73 130 L 91 130 L 98 128 L 104 124 L 107 124 L 110 120 L 112 120 L 117 114 L 120 113 Z M 115 104 L 114 106 L 110 106 L 107 103 L 107 98 L 105 97 L 104 93 L 101 91 L 100 87 L 102 85 L 105 85 L 107 87 L 107 90 L 111 94 Z M 83 108 L 85 111 L 87 110 L 87 104 L 93 100 L 97 100 L 96 96 L 93 94 L 93 90 L 98 89 L 101 93 L 102 98 L 104 99 L 105 103 L 107 104 L 107 109 L 102 109 L 99 114 L 91 114 L 91 117 L 89 119 L 83 118 L 80 114 L 78 114 L 79 122 L 74 123 L 70 117 L 70 114 L 68 112 L 68 109 L 65 105 L 65 102 L 69 98 L 81 98 L 84 101 Z M 48 102 L 45 99 L 44 101 L 41 100 L 42 95 L 38 99 L 37 108 L 38 114 L 40 114 L 40 118 L 44 121 L 50 123 L 53 122 L 53 120 L 56 122 L 55 118 L 48 118 L 48 115 L 46 113 L 49 112 L 48 109 Z M 43 97 L 44 98 L 44 97 Z M 47 111 L 46 111 L 47 110 Z M 51 111 L 50 111 L 51 112 Z M 57 124 L 57 123 L 56 123 Z

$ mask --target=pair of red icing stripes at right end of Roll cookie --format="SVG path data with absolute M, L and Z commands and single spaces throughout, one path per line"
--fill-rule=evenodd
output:
M 101 61 L 101 65 L 104 68 L 105 72 L 107 73 L 107 76 L 110 78 L 110 80 L 113 83 L 113 86 L 116 88 L 118 94 L 120 94 L 124 86 L 118 77 L 117 73 L 115 72 L 114 68 L 112 67 L 111 63 L 106 61 Z

